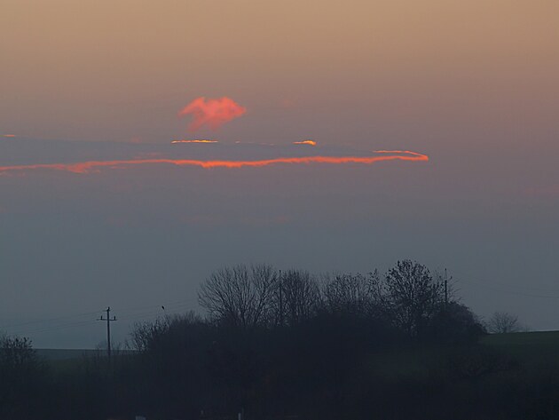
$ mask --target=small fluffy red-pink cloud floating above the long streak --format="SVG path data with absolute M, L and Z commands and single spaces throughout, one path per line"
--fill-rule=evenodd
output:
M 193 122 L 188 128 L 192 131 L 207 125 L 211 129 L 217 129 L 224 123 L 240 117 L 247 112 L 247 108 L 241 107 L 234 100 L 223 97 L 220 99 L 208 99 L 201 97 L 194 99 L 190 104 L 181 109 L 178 116 L 193 115 Z

